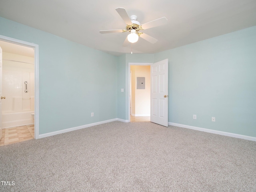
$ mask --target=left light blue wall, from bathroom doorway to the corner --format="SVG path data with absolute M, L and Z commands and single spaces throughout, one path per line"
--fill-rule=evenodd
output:
M 0 34 L 39 45 L 39 134 L 116 118 L 116 56 L 4 18 Z

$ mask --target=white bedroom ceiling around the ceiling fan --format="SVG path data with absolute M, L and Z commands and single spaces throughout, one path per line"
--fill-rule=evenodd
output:
M 256 26 L 256 0 L 0 0 L 0 16 L 114 55 L 129 53 L 122 46 L 128 32 L 115 8 L 123 7 L 140 24 L 166 17 L 164 26 L 143 32 L 158 39 L 140 38 L 134 53 L 156 53 L 243 28 Z

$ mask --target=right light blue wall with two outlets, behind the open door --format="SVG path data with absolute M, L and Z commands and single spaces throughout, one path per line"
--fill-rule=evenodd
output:
M 154 54 L 166 58 L 169 122 L 256 137 L 256 26 Z

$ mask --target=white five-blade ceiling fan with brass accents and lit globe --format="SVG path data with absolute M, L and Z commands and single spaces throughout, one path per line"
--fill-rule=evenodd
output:
M 118 14 L 122 17 L 124 22 L 126 23 L 126 29 L 118 29 L 118 30 L 101 30 L 101 34 L 105 33 L 119 33 L 119 32 L 130 32 L 128 34 L 126 40 L 124 41 L 124 44 L 128 42 L 135 43 L 138 41 L 138 38 L 141 37 L 144 40 L 154 44 L 157 42 L 157 39 L 153 38 L 152 36 L 149 36 L 145 33 L 140 32 L 140 30 L 145 30 L 153 27 L 157 27 L 163 24 L 167 23 L 167 19 L 165 17 L 147 22 L 145 24 L 140 24 L 140 22 L 137 21 L 137 16 L 132 15 L 131 17 L 128 16 L 126 10 L 124 8 L 118 7 L 116 8 L 116 11 Z

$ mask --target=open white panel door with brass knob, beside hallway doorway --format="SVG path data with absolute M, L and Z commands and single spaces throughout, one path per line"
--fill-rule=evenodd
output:
M 151 65 L 150 121 L 168 127 L 168 59 Z

